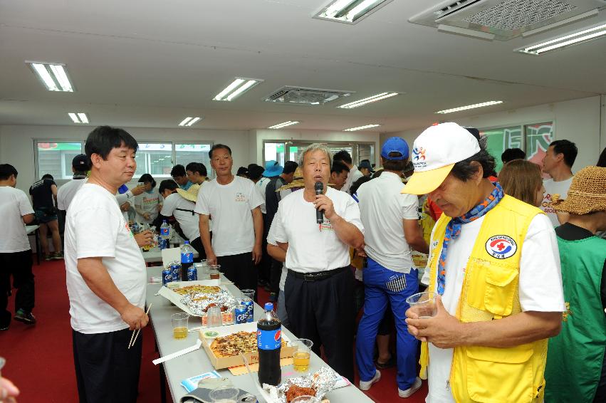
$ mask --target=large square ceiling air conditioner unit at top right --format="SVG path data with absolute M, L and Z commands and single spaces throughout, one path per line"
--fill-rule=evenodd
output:
M 606 0 L 449 0 L 408 21 L 439 31 L 508 41 L 595 16 Z

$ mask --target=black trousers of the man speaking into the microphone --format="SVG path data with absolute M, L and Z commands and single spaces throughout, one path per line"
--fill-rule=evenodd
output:
M 312 350 L 320 355 L 320 345 L 328 365 L 353 382 L 353 335 L 355 328 L 355 279 L 350 270 L 320 281 L 286 276 L 284 296 L 290 330 L 313 341 Z

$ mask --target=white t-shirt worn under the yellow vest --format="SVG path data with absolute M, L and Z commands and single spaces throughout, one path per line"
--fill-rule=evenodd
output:
M 373 179 L 374 180 L 374 179 Z M 446 286 L 442 303 L 444 308 L 454 315 L 459 304 L 461 289 L 465 278 L 465 267 L 484 216 L 461 227 L 461 234 L 451 241 L 446 256 Z M 432 233 L 429 256 L 434 248 L 442 251 Z M 429 259 L 431 261 L 431 259 Z M 429 265 L 429 263 L 428 263 Z M 425 270 L 422 283 L 429 283 L 429 268 Z M 528 226 L 520 258 L 520 305 L 523 311 L 563 312 L 564 295 L 562 273 L 560 271 L 560 253 L 555 231 L 549 219 L 538 214 Z M 438 348 L 429 343 L 429 394 L 427 403 L 454 403 L 452 393 L 447 386 L 450 377 L 453 349 Z

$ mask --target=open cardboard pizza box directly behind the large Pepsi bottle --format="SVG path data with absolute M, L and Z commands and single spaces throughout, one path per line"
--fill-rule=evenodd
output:
M 216 337 L 231 335 L 233 333 L 238 332 L 256 332 L 256 322 L 239 323 L 237 325 L 225 325 L 216 328 L 204 328 L 199 331 L 199 339 L 202 340 L 202 346 L 207 352 L 209 360 L 211 361 L 212 365 L 215 367 L 216 370 L 222 370 L 223 368 L 244 365 L 244 362 L 242 361 L 242 358 L 239 355 L 234 355 L 232 357 L 216 357 L 216 355 L 214 355 L 214 352 L 210 348 L 211 342 L 214 339 L 207 339 L 206 337 L 204 337 L 204 333 L 213 330 L 216 333 L 219 333 L 219 335 L 217 335 Z M 286 342 L 286 345 L 282 345 L 282 348 L 280 350 L 280 358 L 292 357 L 296 352 L 297 348 L 288 346 L 288 341 L 290 341 L 290 339 L 284 333 L 282 333 L 282 340 Z M 258 352 L 256 351 L 247 352 L 244 354 L 244 357 L 246 357 L 246 360 L 249 361 L 249 364 L 258 362 Z

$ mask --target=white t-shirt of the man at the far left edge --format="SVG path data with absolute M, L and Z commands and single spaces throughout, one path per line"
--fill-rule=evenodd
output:
M 0 186 L 0 217 L 3 227 L 0 253 L 23 252 L 30 249 L 25 224 L 23 224 L 23 216 L 27 214 L 33 214 L 33 208 L 25 192 L 10 186 Z

